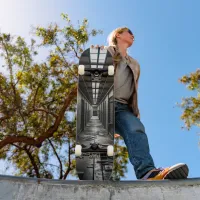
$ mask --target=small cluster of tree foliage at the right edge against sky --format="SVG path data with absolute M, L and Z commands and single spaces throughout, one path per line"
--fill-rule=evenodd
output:
M 185 127 L 189 130 L 191 126 L 200 126 L 200 70 L 190 75 L 185 75 L 179 81 L 187 86 L 191 91 L 196 91 L 196 97 L 183 98 L 181 104 L 178 104 L 183 113 L 181 119 L 184 120 Z

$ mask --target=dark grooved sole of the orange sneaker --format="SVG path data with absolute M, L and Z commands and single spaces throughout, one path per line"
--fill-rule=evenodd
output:
M 169 172 L 163 179 L 186 179 L 189 173 L 189 168 L 186 164 L 179 163 L 170 167 Z

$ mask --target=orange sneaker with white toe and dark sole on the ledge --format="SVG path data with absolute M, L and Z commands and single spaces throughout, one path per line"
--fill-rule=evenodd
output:
M 184 163 L 179 163 L 167 168 L 152 169 L 142 180 L 186 179 L 188 173 L 188 166 Z

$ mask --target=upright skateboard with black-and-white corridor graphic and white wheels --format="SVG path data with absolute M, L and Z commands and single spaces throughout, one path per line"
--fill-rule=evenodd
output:
M 109 180 L 114 157 L 114 66 L 105 48 L 90 47 L 79 59 L 76 172 L 80 180 Z

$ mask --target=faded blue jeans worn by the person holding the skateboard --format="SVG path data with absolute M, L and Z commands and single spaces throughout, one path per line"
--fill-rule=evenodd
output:
M 150 155 L 145 127 L 127 104 L 115 101 L 115 132 L 121 135 L 128 149 L 129 160 L 137 179 L 155 168 Z

